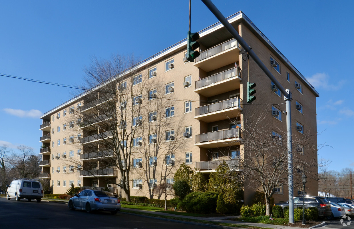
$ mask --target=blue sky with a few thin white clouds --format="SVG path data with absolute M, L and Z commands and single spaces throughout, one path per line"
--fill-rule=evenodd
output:
M 177 3 L 178 2 L 178 3 Z M 243 11 L 320 93 L 319 159 L 354 168 L 353 1 L 213 0 L 225 17 Z M 0 0 L 0 73 L 82 84 L 93 56 L 145 59 L 183 40 L 188 0 Z M 192 32 L 217 22 L 192 0 Z M 72 97 L 68 88 L 0 76 L 0 145 L 39 153 L 39 116 Z

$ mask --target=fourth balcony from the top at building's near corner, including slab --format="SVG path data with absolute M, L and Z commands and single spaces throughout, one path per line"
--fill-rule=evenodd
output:
M 202 133 L 195 136 L 194 145 L 207 149 L 240 145 L 240 135 L 240 128 Z

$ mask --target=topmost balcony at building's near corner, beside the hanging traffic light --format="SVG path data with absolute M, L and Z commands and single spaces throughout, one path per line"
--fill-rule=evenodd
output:
M 195 59 L 194 66 L 209 72 L 228 64 L 238 62 L 240 59 L 239 44 L 235 39 L 209 48 L 200 53 Z

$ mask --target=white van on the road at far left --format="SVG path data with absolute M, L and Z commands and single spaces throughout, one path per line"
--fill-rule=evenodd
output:
M 31 201 L 36 199 L 41 202 L 43 197 L 42 184 L 36 179 L 13 179 L 10 185 L 7 186 L 6 199 L 15 198 L 16 201 L 27 199 Z

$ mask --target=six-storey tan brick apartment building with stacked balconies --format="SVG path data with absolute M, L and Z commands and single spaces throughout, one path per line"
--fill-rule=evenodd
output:
M 318 92 L 244 13 L 227 19 L 281 85 L 291 90 L 294 136 L 314 136 L 308 145 L 316 146 Z M 199 34 L 200 56 L 195 62 L 187 61 L 184 39 L 41 117 L 40 178 L 50 179 L 53 193 L 65 193 L 74 183 L 81 188 L 107 187 L 124 197 L 117 184 L 127 182 L 130 195 L 156 198 L 153 189 L 161 182 L 173 183 L 182 163 L 205 176 L 222 162 L 239 165 L 247 157 L 242 147 L 246 116 L 265 108 L 257 104 L 268 104 L 264 122 L 274 136 L 286 132 L 281 92 L 254 62 L 248 66 L 244 50 L 223 25 L 216 23 Z M 248 78 L 257 84 L 252 105 L 246 103 Z M 115 93 L 107 93 L 107 86 Z M 112 147 L 112 142 L 120 144 Z M 312 154 L 305 148 L 295 153 L 317 161 L 316 147 Z M 126 181 L 121 168 L 129 171 Z M 294 179 L 297 173 L 301 177 L 302 170 L 294 169 Z M 317 169 L 312 173 L 316 176 Z M 254 192 L 245 187 L 246 204 Z M 287 184 L 277 187 L 275 201 L 286 200 L 287 192 Z M 306 192 L 318 193 L 315 179 Z M 301 193 L 294 190 L 294 195 Z

